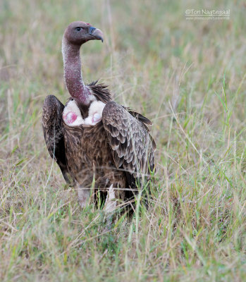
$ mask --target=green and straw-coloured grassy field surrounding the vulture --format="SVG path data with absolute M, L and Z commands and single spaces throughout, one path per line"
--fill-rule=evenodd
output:
M 246 6 L 121 2 L 0 1 L 0 280 L 245 281 Z M 230 19 L 186 20 L 187 8 Z M 51 166 L 42 133 L 44 98 L 68 98 L 61 38 L 73 20 L 104 32 L 82 48 L 85 82 L 154 123 L 152 202 L 108 232 Z

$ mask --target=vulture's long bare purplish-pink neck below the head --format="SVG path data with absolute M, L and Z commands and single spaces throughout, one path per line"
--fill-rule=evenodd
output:
M 68 43 L 63 37 L 62 54 L 64 78 L 68 92 L 76 101 L 84 105 L 90 104 L 90 91 L 82 80 L 80 46 Z

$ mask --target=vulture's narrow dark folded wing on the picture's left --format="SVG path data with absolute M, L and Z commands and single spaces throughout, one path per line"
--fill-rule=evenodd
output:
M 47 96 L 43 105 L 42 128 L 49 154 L 61 168 L 66 183 L 70 184 L 62 130 L 63 109 L 64 105 L 59 99 L 54 95 Z

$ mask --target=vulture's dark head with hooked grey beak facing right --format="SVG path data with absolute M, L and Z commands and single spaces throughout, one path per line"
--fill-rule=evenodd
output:
M 90 23 L 75 21 L 70 23 L 64 32 L 64 37 L 70 44 L 81 46 L 89 40 L 104 41 L 102 31 L 96 27 L 92 27 Z

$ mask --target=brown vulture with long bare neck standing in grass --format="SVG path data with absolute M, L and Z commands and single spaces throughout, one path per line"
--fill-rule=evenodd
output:
M 113 101 L 106 85 L 85 85 L 80 47 L 102 40 L 102 31 L 90 23 L 70 23 L 63 34 L 64 78 L 70 98 L 63 105 L 53 95 L 44 100 L 42 128 L 49 154 L 68 185 L 78 190 L 85 207 L 92 191 L 104 195 L 105 206 L 134 198 L 137 183 L 154 171 L 154 139 L 148 118 Z M 108 205 L 107 205 L 108 204 Z

